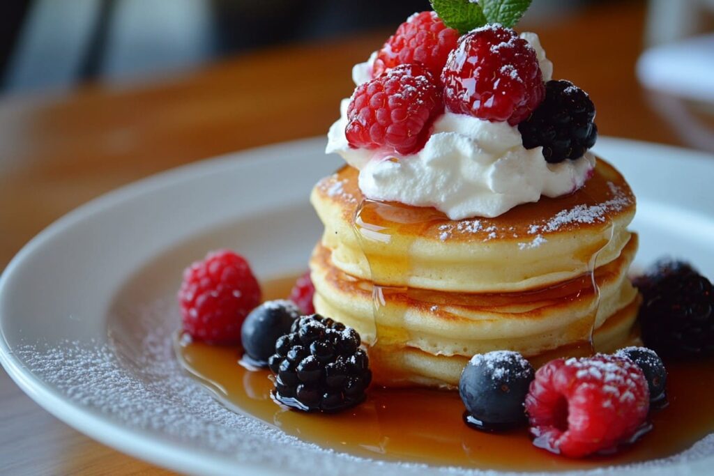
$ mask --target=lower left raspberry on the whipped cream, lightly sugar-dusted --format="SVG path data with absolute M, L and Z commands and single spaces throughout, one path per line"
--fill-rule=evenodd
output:
M 418 151 L 443 111 L 441 90 L 425 66 L 402 64 L 357 86 L 347 108 L 345 135 L 352 147 Z

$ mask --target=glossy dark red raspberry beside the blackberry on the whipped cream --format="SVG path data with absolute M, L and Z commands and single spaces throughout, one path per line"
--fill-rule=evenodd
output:
M 462 36 L 441 81 L 449 111 L 511 126 L 528 118 L 545 97 L 533 46 L 500 25 Z

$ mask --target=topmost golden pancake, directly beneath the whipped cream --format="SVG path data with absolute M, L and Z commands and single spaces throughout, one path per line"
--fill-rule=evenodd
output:
M 618 258 L 635 213 L 628 183 L 598 159 L 583 188 L 495 218 L 451 221 L 434 208 L 365 200 L 358 171 L 323 178 L 311 202 L 333 265 L 380 285 L 511 292 L 575 278 Z

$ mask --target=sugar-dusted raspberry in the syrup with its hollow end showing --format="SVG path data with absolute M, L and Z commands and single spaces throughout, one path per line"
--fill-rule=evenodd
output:
M 569 457 L 631 442 L 649 407 L 642 370 L 613 355 L 553 360 L 538 369 L 526 395 L 533 445 Z

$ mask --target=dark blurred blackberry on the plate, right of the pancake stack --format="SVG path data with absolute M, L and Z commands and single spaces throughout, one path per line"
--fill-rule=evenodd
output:
M 643 295 L 642 338 L 659 355 L 714 355 L 712 284 L 687 263 L 660 261 L 635 279 Z

